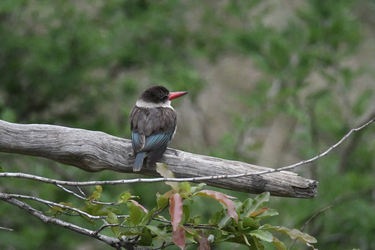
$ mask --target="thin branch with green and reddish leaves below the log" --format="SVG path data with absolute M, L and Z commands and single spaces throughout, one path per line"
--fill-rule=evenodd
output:
M 174 178 L 174 174 L 162 163 L 157 163 L 156 170 L 165 178 Z M 232 201 L 231 199 L 236 198 L 217 191 L 200 190 L 204 187 L 204 183 L 197 186 L 191 186 L 186 181 L 165 183 L 171 187 L 171 190 L 163 195 L 157 193 L 157 207 L 151 210 L 147 210 L 135 201 L 133 198 L 137 197 L 129 192 L 121 193 L 115 203 L 102 202 L 101 186 L 96 186 L 96 190 L 88 198 L 77 196 L 71 190 L 63 188 L 69 194 L 85 200 L 85 205 L 80 206 L 81 208 L 73 203 L 55 203 L 26 195 L 0 193 L 0 199 L 26 210 L 43 222 L 63 226 L 96 238 L 116 249 L 146 249 L 142 246 L 147 246 L 147 249 L 157 250 L 177 245 L 183 250 L 187 244 L 199 244 L 199 249 L 209 250 L 211 243 L 235 242 L 261 247 L 262 241 L 280 246 L 283 243 L 272 235 L 274 231 L 282 232 L 293 239 L 298 238 L 308 246 L 316 242 L 314 237 L 303 234 L 297 229 L 292 231 L 283 227 L 260 224 L 261 219 L 278 214 L 276 210 L 263 207 L 264 202 L 269 200 L 269 193 L 259 195 L 254 201 L 249 198 L 241 202 Z M 189 205 L 198 196 L 214 199 L 223 205 L 223 208 L 213 213 L 205 223 L 201 223 L 201 216 L 190 217 Z M 47 205 L 49 210 L 38 211 L 20 199 L 40 202 Z M 129 215 L 118 215 L 121 213 L 118 206 L 111 207 L 120 204 L 126 204 Z M 169 213 L 163 216 L 162 213 L 166 212 L 167 208 Z M 45 216 L 45 213 L 51 216 Z M 92 231 L 60 219 L 64 216 L 80 216 L 89 223 L 102 221 L 103 224 Z M 107 228 L 111 229 L 114 237 L 100 234 Z

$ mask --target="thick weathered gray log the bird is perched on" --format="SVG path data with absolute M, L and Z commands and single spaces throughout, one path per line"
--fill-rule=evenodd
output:
M 88 172 L 105 169 L 133 172 L 131 141 L 98 131 L 0 120 L 0 151 L 44 157 Z M 166 150 L 160 162 L 165 163 L 178 178 L 241 174 L 268 169 L 171 148 Z M 160 177 L 155 168 L 143 167 L 140 173 Z M 274 196 L 296 198 L 314 198 L 318 187 L 317 181 L 288 171 L 204 182 L 223 189 L 247 193 L 270 192 Z

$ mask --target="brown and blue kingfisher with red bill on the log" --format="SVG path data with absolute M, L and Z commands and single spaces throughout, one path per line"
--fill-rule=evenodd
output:
M 171 100 L 187 93 L 170 93 L 166 87 L 154 85 L 141 94 L 129 115 L 135 155 L 133 172 L 141 170 L 146 156 L 148 168 L 162 157 L 177 127 L 177 113 Z

